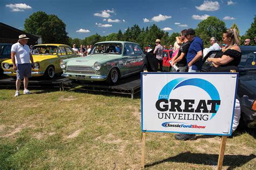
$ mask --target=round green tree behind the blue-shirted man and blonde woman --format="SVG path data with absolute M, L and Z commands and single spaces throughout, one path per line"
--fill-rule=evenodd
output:
M 215 37 L 217 40 L 221 40 L 223 32 L 226 31 L 225 22 L 220 21 L 217 17 L 208 17 L 204 21 L 201 21 L 196 28 L 196 35 L 199 36 L 204 46 L 210 46 L 210 38 Z

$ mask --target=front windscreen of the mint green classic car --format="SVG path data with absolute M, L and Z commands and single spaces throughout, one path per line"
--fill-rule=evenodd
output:
M 99 43 L 95 44 L 92 47 L 91 55 L 96 54 L 117 54 L 120 55 L 122 53 L 122 44 L 121 43 Z

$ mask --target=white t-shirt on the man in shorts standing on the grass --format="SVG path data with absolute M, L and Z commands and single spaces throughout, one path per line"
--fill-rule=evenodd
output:
M 26 64 L 30 63 L 30 49 L 28 45 L 21 45 L 19 42 L 12 44 L 11 52 L 15 52 L 15 63 Z

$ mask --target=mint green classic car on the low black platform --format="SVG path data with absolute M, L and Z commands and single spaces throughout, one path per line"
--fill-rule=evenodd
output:
M 115 84 L 119 78 L 146 70 L 146 64 L 139 44 L 109 41 L 93 45 L 86 57 L 62 60 L 60 67 L 62 76 L 70 79 Z

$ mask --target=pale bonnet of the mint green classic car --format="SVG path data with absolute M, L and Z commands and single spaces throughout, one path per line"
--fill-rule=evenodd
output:
M 120 58 L 120 55 L 89 55 L 86 57 L 77 57 L 66 60 L 67 65 L 85 65 L 92 66 L 95 62 L 103 64 L 111 60 Z

